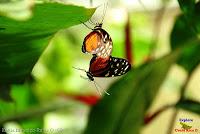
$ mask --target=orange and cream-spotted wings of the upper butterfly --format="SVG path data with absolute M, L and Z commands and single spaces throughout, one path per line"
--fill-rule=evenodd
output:
M 97 27 L 84 38 L 82 52 L 107 58 L 112 53 L 112 46 L 110 35 L 101 27 Z

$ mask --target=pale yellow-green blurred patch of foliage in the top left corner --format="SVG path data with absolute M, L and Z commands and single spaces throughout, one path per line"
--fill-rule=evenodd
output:
M 16 20 L 26 20 L 31 17 L 34 0 L 0 1 L 0 15 Z

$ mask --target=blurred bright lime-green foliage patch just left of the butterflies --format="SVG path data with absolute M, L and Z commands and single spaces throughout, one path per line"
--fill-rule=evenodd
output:
M 73 75 L 74 60 L 71 59 L 79 57 L 72 51 L 72 48 L 75 48 L 74 45 L 66 39 L 63 32 L 59 32 L 40 57 L 39 64 L 33 69 L 33 76 L 36 80 L 33 85 L 41 100 L 52 99 L 60 92 L 72 91 L 73 88 L 68 83 L 74 82 L 77 85 L 76 81 L 69 80 Z M 79 46 L 78 49 L 80 50 Z

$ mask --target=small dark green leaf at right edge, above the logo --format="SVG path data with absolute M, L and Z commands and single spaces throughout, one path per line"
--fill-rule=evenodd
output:
M 177 108 L 188 110 L 200 115 L 200 102 L 193 100 L 183 100 L 176 104 Z

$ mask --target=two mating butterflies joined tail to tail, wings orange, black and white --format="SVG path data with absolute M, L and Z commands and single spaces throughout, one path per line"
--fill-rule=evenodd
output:
M 76 69 L 85 71 L 90 81 L 94 81 L 94 77 L 114 77 L 127 73 L 131 69 L 131 64 L 126 59 L 112 57 L 112 47 L 110 35 L 102 29 L 102 23 L 97 24 L 85 37 L 82 45 L 83 53 L 93 55 L 89 71 Z M 96 86 L 95 82 L 94 84 Z

